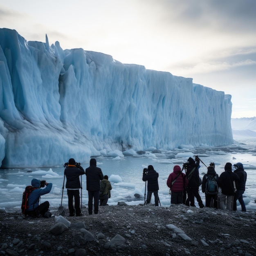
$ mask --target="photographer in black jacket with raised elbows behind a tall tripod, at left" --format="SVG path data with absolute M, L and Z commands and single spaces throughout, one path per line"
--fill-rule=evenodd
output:
M 68 197 L 68 209 L 70 211 L 70 216 L 82 216 L 80 209 L 80 195 L 79 189 L 81 189 L 81 183 L 79 176 L 85 174 L 83 167 L 76 164 L 74 158 L 70 158 L 68 165 L 65 168 L 64 175 L 67 177 L 66 189 Z M 73 198 L 75 200 L 75 207 L 73 205 Z

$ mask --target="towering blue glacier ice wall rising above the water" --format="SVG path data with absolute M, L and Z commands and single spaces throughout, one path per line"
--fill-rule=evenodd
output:
M 0 29 L 2 168 L 85 162 L 101 150 L 233 142 L 231 96 L 168 72 L 123 64 Z

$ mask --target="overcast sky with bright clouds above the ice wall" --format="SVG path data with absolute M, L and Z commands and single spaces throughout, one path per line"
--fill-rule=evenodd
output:
M 256 0 L 0 0 L 0 27 L 191 77 L 256 116 Z

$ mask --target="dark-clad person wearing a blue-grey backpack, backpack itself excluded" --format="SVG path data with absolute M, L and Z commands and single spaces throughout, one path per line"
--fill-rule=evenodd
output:
M 218 203 L 217 203 L 217 197 L 216 195 L 218 194 L 218 185 L 216 186 L 216 191 L 209 193 L 206 188 L 207 180 L 213 178 L 216 182 L 219 178 L 219 175 L 216 173 L 215 168 L 213 166 L 208 166 L 207 167 L 207 174 L 204 175 L 202 179 L 202 192 L 205 193 L 205 206 L 206 207 L 211 207 L 211 202 L 213 200 L 213 207 L 218 208 Z

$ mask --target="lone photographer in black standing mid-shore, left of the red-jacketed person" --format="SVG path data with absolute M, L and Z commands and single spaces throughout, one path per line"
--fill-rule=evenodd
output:
M 152 193 L 154 193 L 155 196 L 155 206 L 158 206 L 158 176 L 159 174 L 154 170 L 154 167 L 152 165 L 148 166 L 148 171 L 143 170 L 143 181 L 148 181 L 148 194 L 147 194 L 147 200 L 146 203 L 149 204 L 151 200 Z

